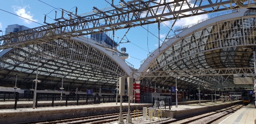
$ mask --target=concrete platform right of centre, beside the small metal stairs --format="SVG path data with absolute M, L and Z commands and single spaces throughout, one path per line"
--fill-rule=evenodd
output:
M 217 101 L 217 103 L 206 102 L 206 103 L 201 103 L 201 105 L 199 103 L 180 105 L 180 106 L 178 105 L 178 108 L 173 106 L 171 110 L 164 110 L 163 117 L 178 119 L 178 118 L 192 116 L 192 115 L 203 113 L 203 112 L 210 112 L 218 109 L 227 108 L 228 106 L 241 104 L 241 103 L 242 101 L 239 100 L 239 101 L 233 101 L 233 102 Z

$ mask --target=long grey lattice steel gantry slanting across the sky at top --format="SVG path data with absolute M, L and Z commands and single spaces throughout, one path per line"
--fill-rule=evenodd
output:
M 230 0 L 174 0 L 173 2 L 136 0 L 127 3 L 122 1 L 122 6 L 112 5 L 112 10 L 104 12 L 97 10 L 94 11 L 95 14 L 75 15 L 71 19 L 60 18 L 56 23 L 1 36 L 0 41 L 3 41 L 3 45 L 0 49 L 10 48 L 10 45 L 29 45 L 239 8 L 232 2 Z

